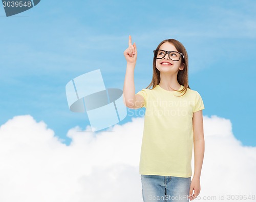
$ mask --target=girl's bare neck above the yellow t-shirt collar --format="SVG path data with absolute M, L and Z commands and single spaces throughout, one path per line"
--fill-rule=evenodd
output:
M 160 78 L 159 86 L 167 91 L 177 90 L 181 86 L 177 80 L 177 75 L 161 75 Z

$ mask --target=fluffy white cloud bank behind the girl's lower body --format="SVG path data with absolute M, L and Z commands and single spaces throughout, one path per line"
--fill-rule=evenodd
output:
M 227 119 L 204 117 L 204 129 L 200 196 L 255 194 L 256 147 L 236 140 Z M 2 125 L 0 201 L 142 201 L 138 166 L 143 118 L 97 136 L 79 130 L 69 130 L 72 143 L 67 146 L 31 116 Z

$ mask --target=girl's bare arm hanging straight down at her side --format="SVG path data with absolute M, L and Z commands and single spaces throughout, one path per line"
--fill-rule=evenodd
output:
M 195 199 L 200 193 L 200 175 L 204 159 L 204 131 L 203 131 L 203 115 L 202 110 L 193 114 L 193 130 L 194 130 L 194 157 L 195 157 L 195 173 L 190 185 L 189 195 L 191 199 Z M 195 190 L 194 195 L 193 189 Z M 190 200 L 191 200 L 190 199 Z

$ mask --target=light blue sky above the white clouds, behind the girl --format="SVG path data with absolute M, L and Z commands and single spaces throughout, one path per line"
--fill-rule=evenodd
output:
M 137 43 L 136 91 L 152 78 L 153 50 L 180 40 L 189 56 L 189 86 L 200 93 L 204 116 L 230 119 L 244 145 L 255 138 L 255 1 L 41 1 L 5 17 L 0 7 L 0 125 L 18 115 L 44 121 L 66 140 L 89 124 L 72 113 L 65 86 L 100 69 L 106 87 L 123 87 L 128 36 Z M 120 124 L 131 121 L 128 116 Z

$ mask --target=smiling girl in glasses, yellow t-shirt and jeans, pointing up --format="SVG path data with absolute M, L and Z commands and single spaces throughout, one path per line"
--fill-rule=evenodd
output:
M 131 36 L 124 57 L 125 105 L 146 108 L 139 168 L 143 201 L 193 200 L 200 192 L 204 104 L 200 94 L 188 85 L 186 49 L 175 39 L 162 41 L 154 50 L 152 81 L 137 94 L 137 48 Z M 191 180 L 193 143 L 195 172 Z

